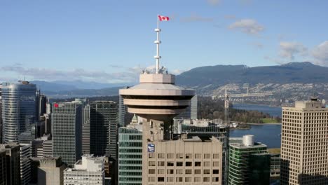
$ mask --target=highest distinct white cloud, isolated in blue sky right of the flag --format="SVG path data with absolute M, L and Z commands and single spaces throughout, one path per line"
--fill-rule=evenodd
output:
M 253 19 L 242 19 L 233 22 L 228 27 L 229 29 L 237 29 L 245 34 L 259 35 L 260 32 L 264 31 L 264 26 L 260 25 L 256 20 Z

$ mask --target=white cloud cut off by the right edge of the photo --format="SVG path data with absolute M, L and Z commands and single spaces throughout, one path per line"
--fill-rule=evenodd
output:
M 316 46 L 311 54 L 315 58 L 315 64 L 328 66 L 328 41 L 324 41 L 319 46 Z

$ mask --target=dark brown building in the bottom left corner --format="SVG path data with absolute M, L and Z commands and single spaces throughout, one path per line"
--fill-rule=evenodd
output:
M 0 151 L 6 151 L 6 184 L 20 185 L 20 146 L 0 144 Z

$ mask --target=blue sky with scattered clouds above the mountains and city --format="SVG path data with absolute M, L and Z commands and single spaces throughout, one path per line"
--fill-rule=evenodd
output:
M 0 81 L 135 81 L 160 61 L 250 67 L 310 61 L 328 66 L 328 1 L 0 1 Z

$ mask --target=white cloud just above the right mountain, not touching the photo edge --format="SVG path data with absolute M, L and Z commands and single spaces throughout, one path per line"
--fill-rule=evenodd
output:
M 308 54 L 308 48 L 303 46 L 302 43 L 297 42 L 280 42 L 280 57 L 288 60 L 294 60 L 295 55 L 306 56 Z

